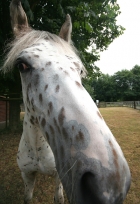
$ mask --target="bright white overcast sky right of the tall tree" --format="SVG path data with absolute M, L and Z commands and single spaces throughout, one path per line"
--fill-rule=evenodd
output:
M 113 75 L 122 69 L 130 70 L 140 65 L 140 0 L 118 0 L 121 14 L 117 24 L 126 30 L 107 50 L 100 53 L 95 64 L 104 74 Z

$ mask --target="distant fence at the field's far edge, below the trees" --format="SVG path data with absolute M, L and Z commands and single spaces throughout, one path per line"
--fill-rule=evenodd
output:
M 100 102 L 99 108 L 106 107 L 130 107 L 140 110 L 140 101 Z

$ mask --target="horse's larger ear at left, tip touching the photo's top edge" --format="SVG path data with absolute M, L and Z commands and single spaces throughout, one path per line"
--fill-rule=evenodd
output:
M 12 0 L 10 4 L 10 16 L 12 29 L 16 36 L 29 28 L 27 16 L 20 0 Z

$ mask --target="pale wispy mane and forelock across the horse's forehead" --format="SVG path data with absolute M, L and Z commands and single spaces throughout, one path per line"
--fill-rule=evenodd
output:
M 67 42 L 65 42 L 63 39 L 61 39 L 59 36 L 55 34 L 51 34 L 46 31 L 30 29 L 25 33 L 21 33 L 12 42 L 8 43 L 6 50 L 8 49 L 9 52 L 5 57 L 5 61 L 2 67 L 3 72 L 6 73 L 12 70 L 15 65 L 15 61 L 18 55 L 22 52 L 22 50 L 32 46 L 33 44 L 36 44 L 41 39 L 51 41 L 51 43 L 54 43 L 55 46 L 58 46 L 59 49 L 63 51 L 65 54 L 77 57 L 80 60 L 78 56 L 78 51 L 76 50 L 72 43 L 69 45 Z M 83 68 L 81 72 L 82 73 L 81 77 L 84 77 L 86 76 L 86 69 L 84 65 L 82 67 Z

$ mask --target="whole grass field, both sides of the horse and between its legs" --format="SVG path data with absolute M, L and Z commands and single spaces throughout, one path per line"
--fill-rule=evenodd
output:
M 140 204 L 140 111 L 100 109 L 129 163 L 132 183 L 124 204 Z M 23 204 L 24 185 L 16 164 L 20 133 L 0 134 L 0 204 Z M 54 180 L 38 175 L 33 204 L 53 204 Z M 65 203 L 67 204 L 67 202 Z

